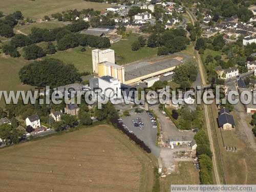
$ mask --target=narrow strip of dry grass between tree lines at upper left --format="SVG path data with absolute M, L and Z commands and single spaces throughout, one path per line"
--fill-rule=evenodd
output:
M 64 24 L 59 24 L 59 23 L 33 23 L 33 24 L 27 24 L 23 26 L 16 26 L 14 30 L 20 30 L 23 33 L 30 34 L 31 29 L 33 27 L 36 28 L 41 28 L 41 29 L 54 29 L 57 27 L 63 27 Z

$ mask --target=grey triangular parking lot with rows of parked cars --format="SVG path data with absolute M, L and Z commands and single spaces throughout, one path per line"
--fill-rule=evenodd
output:
M 143 112 L 139 114 L 131 114 L 131 116 L 122 117 L 121 119 L 123 124 L 127 126 L 127 129 L 144 141 L 144 143 L 151 148 L 152 153 L 156 157 L 159 157 L 160 147 L 156 146 L 157 127 L 153 127 L 150 116 L 148 116 L 146 112 Z M 135 122 L 133 122 L 133 120 Z M 143 126 L 135 126 L 137 125 L 135 123 L 140 124 L 139 122 L 143 123 Z

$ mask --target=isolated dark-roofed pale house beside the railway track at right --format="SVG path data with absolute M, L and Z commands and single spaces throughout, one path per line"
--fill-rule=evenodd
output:
M 233 116 L 228 109 L 221 109 L 218 116 L 218 124 L 223 130 L 231 130 L 234 127 Z

